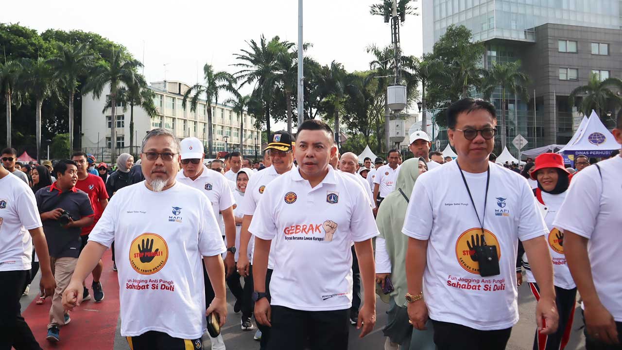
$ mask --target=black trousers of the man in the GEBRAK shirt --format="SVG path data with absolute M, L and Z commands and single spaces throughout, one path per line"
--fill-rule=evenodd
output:
M 350 310 L 300 311 L 272 306 L 268 350 L 346 350 Z

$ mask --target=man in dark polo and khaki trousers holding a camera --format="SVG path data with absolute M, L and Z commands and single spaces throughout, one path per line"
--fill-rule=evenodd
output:
M 70 321 L 62 305 L 63 291 L 72 278 L 80 255 L 81 228 L 93 224 L 93 209 L 88 195 L 75 187 L 78 182 L 75 161 L 59 161 L 53 174 L 57 181 L 37 191 L 35 198 L 57 285 L 50 308 L 47 339 L 57 342 L 60 340 L 59 327 Z

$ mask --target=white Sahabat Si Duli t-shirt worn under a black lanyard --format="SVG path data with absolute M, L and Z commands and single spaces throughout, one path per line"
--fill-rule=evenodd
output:
M 419 176 L 402 229 L 409 237 L 429 240 L 424 295 L 430 318 L 483 331 L 518 322 L 518 240 L 547 233 L 526 179 L 498 166 L 489 169 L 485 217 L 487 174 L 464 172 L 464 176 L 484 221 L 486 245 L 497 247 L 499 275 L 481 277 L 472 255 L 471 244 L 481 237 L 481 226 L 457 162 Z

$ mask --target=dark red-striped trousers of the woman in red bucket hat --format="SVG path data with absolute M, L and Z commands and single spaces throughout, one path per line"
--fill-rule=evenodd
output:
M 540 300 L 540 287 L 537 283 L 529 282 L 531 293 Z M 577 305 L 577 288 L 570 290 L 555 286 L 555 304 L 559 313 L 557 331 L 553 334 L 540 334 L 536 330 L 534 336 L 534 350 L 564 350 L 570 339 L 572 321 L 575 318 Z

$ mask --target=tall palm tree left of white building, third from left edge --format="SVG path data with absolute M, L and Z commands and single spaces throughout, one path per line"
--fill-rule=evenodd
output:
M 73 98 L 79 78 L 90 69 L 93 55 L 86 45 L 57 44 L 57 55 L 47 62 L 52 67 L 54 78 L 58 79 L 69 94 L 69 152 L 73 152 Z

